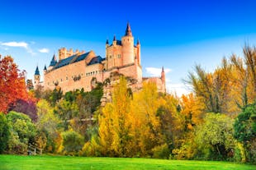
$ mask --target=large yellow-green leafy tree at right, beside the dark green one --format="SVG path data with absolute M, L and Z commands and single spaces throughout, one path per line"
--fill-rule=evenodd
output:
M 201 159 L 227 159 L 235 148 L 233 120 L 225 114 L 207 113 L 197 126 L 196 142 Z

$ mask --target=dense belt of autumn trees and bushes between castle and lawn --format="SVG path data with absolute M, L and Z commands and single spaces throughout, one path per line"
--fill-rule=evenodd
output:
M 65 94 L 39 86 L 1 105 L 0 152 L 26 154 L 36 145 L 53 154 L 256 163 L 255 65 L 256 48 L 245 46 L 243 58 L 224 58 L 213 72 L 196 66 L 186 80 L 193 93 L 180 99 L 150 82 L 132 93 L 124 76 L 105 106 L 105 84 Z M 2 100 L 9 89 L 0 88 Z

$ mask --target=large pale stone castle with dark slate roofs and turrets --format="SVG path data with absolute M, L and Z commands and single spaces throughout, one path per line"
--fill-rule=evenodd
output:
M 118 73 L 135 80 L 134 87 L 140 89 L 143 81 L 156 83 L 159 92 L 165 89 L 165 74 L 162 68 L 160 77 L 142 77 L 140 64 L 140 41 L 134 44 L 130 24 L 127 23 L 126 33 L 112 44 L 106 42 L 106 57 L 97 56 L 93 51 L 79 52 L 73 49 L 59 48 L 59 59 L 52 57 L 50 66 L 44 68 L 44 82 L 40 82 L 40 71 L 36 67 L 34 85 L 54 90 L 58 85 L 64 92 L 76 89 L 90 91 L 95 81 L 103 82 L 112 73 Z

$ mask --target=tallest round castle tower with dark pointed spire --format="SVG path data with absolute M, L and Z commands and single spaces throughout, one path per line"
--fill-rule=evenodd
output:
M 130 24 L 127 23 L 126 34 L 121 38 L 123 65 L 134 63 L 134 37 L 132 36 Z

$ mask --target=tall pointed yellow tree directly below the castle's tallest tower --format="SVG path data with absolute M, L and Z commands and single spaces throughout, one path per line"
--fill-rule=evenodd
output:
M 102 118 L 99 119 L 99 134 L 102 137 L 102 145 L 111 147 L 116 156 L 130 156 L 130 122 L 128 116 L 130 113 L 130 97 L 127 90 L 126 79 L 121 76 L 120 82 L 114 87 L 112 94 L 112 103 L 107 103 L 107 109 L 102 110 Z M 107 121 L 107 122 L 103 122 Z M 107 134 L 107 131 L 111 131 Z M 111 136 L 109 136 L 111 135 Z M 106 145 L 106 141 L 111 145 Z M 110 139 L 109 139 L 110 138 Z M 106 148 L 105 148 L 106 149 Z

